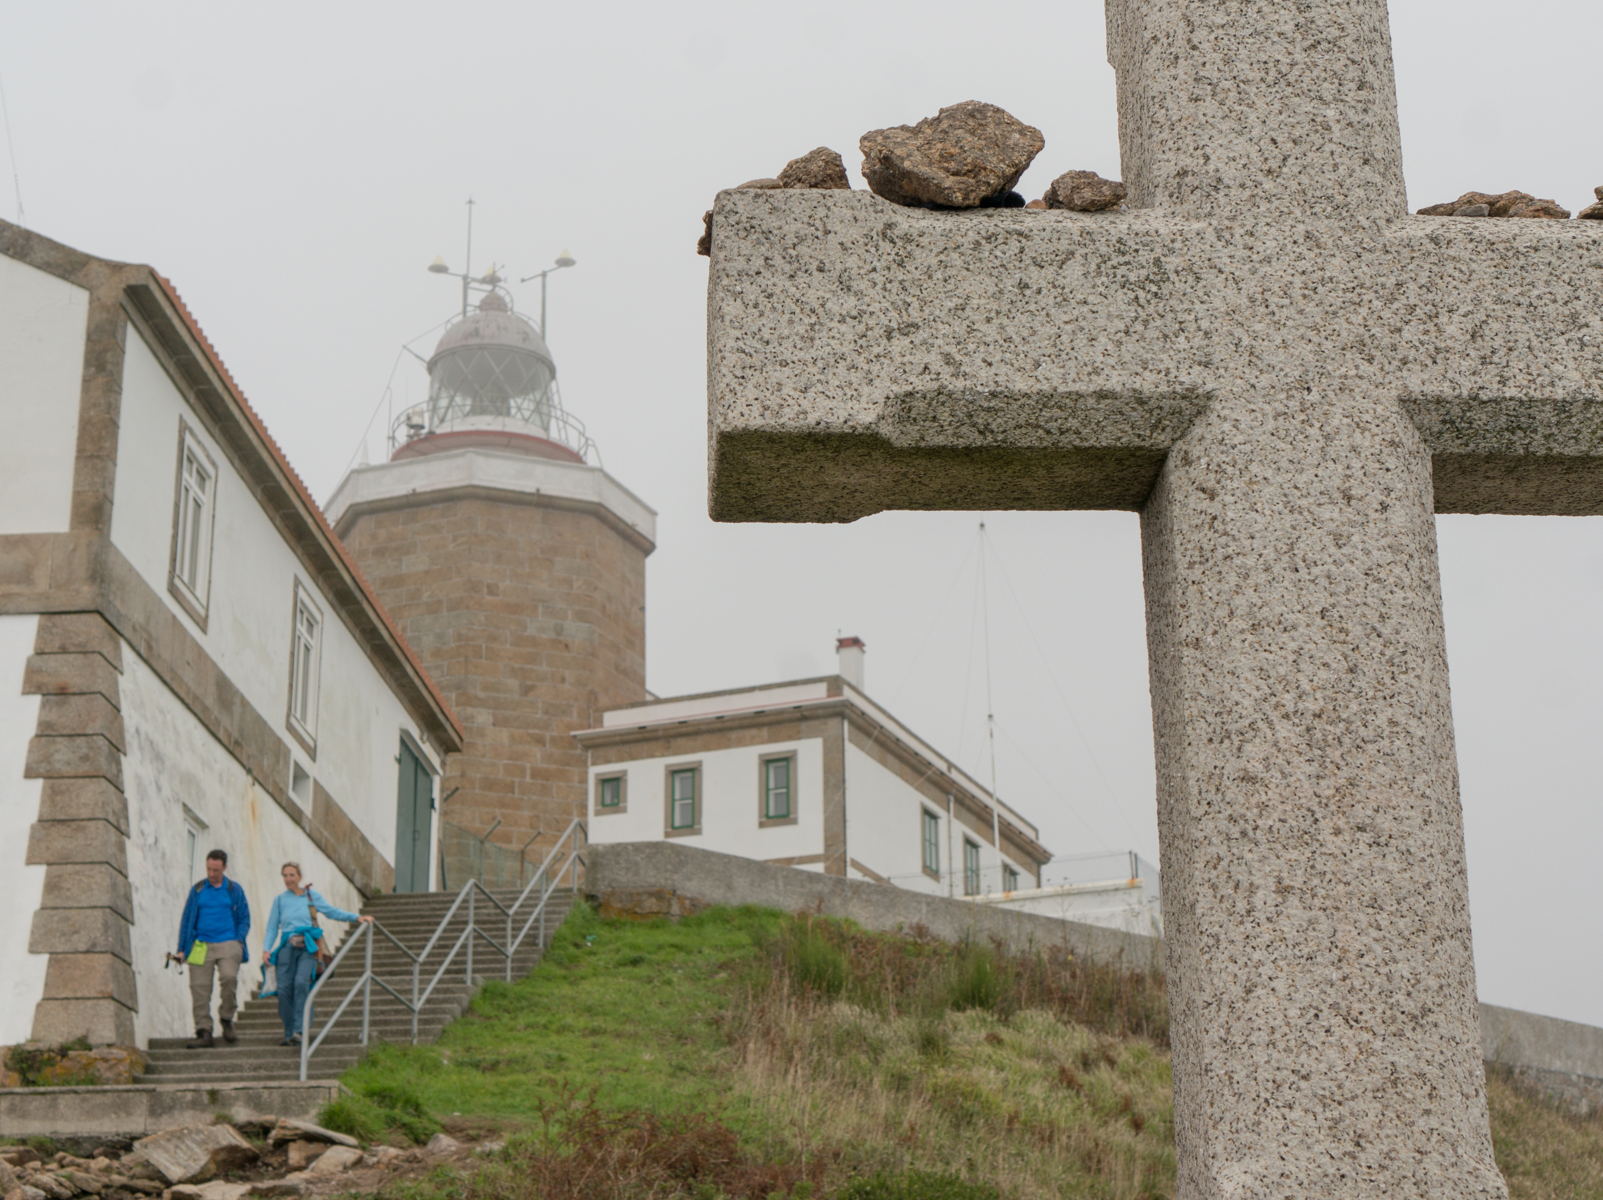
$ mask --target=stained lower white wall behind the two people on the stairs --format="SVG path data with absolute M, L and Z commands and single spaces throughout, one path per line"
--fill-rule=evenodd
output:
M 131 647 L 123 647 L 122 658 L 127 737 L 122 774 L 128 796 L 128 876 L 135 881 L 133 969 L 139 989 L 135 1035 L 139 1045 L 147 1045 L 152 1037 L 191 1032 L 188 976 L 164 968 L 162 961 L 178 947 L 184 889 L 204 873 L 207 851 L 228 852 L 228 875 L 244 886 L 250 900 L 250 966 L 240 971 L 240 1001 L 261 981 L 261 937 L 273 897 L 284 891 L 279 867 L 285 860 L 300 862 L 303 878 L 332 904 L 356 912 L 362 900 Z M 188 856 L 184 804 L 207 825 L 196 846 L 194 867 Z M 45 868 L 37 870 L 43 878 Z M 38 958 L 43 963 L 43 956 Z M 35 990 L 35 1000 L 37 995 Z M 24 1019 L 32 1019 L 32 1003 Z

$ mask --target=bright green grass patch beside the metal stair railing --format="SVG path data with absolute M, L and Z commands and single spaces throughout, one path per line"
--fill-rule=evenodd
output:
M 489 984 L 431 1046 L 380 1046 L 346 1072 L 359 1097 L 399 1089 L 434 1117 L 532 1121 L 564 1085 L 608 1107 L 699 1109 L 733 1061 L 729 997 L 781 915 L 718 908 L 681 921 L 603 921 L 575 905 L 540 964 Z

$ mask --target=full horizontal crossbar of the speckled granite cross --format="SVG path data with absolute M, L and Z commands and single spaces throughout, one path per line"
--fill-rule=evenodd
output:
M 1603 513 L 1603 229 L 941 213 L 731 191 L 710 509 L 1140 508 L 1220 396 L 1363 388 L 1438 511 Z

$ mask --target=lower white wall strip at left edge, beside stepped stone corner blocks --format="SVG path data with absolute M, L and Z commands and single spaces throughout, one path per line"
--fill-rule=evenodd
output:
M 0 258 L 0 264 L 10 260 Z M 0 296 L 5 292 L 0 277 Z M 0 330 L 3 336 L 3 330 Z M 45 868 L 24 864 L 27 830 L 38 820 L 43 780 L 22 779 L 27 743 L 38 727 L 38 697 L 21 695 L 38 617 L 0 617 L 0 1046 L 27 1041 L 34 1006 L 45 992 L 50 955 L 27 952 L 45 892 Z

